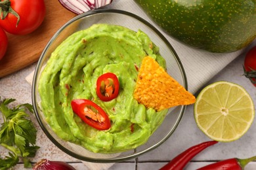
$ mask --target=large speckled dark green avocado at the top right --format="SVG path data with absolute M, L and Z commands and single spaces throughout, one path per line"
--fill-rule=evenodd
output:
M 256 38 L 256 0 L 135 0 L 178 41 L 215 53 L 234 52 Z

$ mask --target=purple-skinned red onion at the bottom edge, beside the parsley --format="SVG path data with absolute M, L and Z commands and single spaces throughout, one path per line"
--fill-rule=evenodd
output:
M 64 161 L 49 161 L 43 159 L 35 163 L 33 170 L 75 170 L 75 168 Z

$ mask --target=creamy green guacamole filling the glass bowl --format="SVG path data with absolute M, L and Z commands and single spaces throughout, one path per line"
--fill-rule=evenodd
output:
M 146 143 L 167 110 L 146 109 L 133 98 L 145 56 L 166 68 L 148 35 L 119 25 L 95 24 L 62 42 L 39 80 L 41 109 L 56 135 L 100 153 L 123 152 Z M 104 102 L 96 95 L 96 80 L 107 72 L 116 74 L 120 85 L 117 98 Z M 110 118 L 110 129 L 99 131 L 85 124 L 73 112 L 72 99 L 90 99 L 102 107 Z

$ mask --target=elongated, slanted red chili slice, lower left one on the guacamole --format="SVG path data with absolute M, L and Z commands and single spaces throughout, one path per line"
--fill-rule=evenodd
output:
M 93 101 L 88 99 L 74 99 L 71 101 L 71 106 L 75 114 L 89 126 L 98 130 L 110 128 L 111 124 L 108 114 Z

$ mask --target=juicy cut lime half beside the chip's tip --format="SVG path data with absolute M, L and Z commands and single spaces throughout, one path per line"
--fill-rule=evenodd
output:
M 194 117 L 209 138 L 230 142 L 249 129 L 254 118 L 251 96 L 232 82 L 215 82 L 203 88 L 196 98 Z

